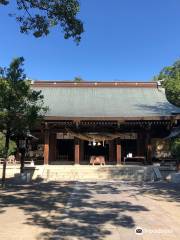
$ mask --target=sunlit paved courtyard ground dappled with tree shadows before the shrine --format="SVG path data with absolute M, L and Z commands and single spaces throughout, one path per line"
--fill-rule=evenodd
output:
M 136 228 L 143 234 L 135 234 Z M 3 240 L 179 240 L 180 186 L 47 182 L 0 190 Z

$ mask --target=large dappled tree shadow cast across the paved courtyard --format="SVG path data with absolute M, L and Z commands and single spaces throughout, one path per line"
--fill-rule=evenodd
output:
M 106 194 L 119 194 L 118 185 L 96 183 L 81 184 L 74 191 L 75 182 L 34 182 L 27 185 L 8 184 L 0 190 L 0 214 L 7 208 L 18 207 L 26 215 L 26 225 L 43 228 L 36 239 L 101 240 L 111 234 L 111 227 L 133 228 L 130 212 L 148 211 L 141 205 L 127 201 L 108 201 Z M 94 194 L 104 197 L 99 200 Z M 111 198 L 112 199 L 112 198 Z M 104 226 L 109 224 L 109 228 Z

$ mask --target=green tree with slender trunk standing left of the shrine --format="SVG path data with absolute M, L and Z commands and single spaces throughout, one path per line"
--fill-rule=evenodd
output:
M 26 136 L 47 110 L 41 92 L 32 90 L 30 81 L 26 80 L 23 63 L 22 57 L 16 58 L 0 72 L 0 130 L 5 135 L 3 186 L 10 139 Z

